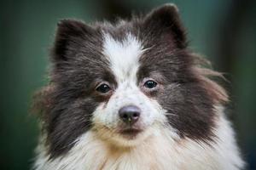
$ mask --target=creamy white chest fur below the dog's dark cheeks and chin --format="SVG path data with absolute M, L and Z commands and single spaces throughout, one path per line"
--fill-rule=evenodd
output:
M 66 156 L 49 161 L 38 148 L 37 170 L 238 170 L 243 167 L 230 123 L 218 108 L 219 120 L 212 146 L 191 139 L 174 140 L 168 128 L 154 128 L 150 138 L 134 148 L 117 149 L 89 131 Z

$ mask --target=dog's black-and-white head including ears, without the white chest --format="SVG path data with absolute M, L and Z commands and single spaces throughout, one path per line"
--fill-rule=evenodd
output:
M 174 6 L 115 25 L 62 20 L 52 61 L 42 94 L 51 156 L 88 131 L 119 147 L 166 128 L 180 139 L 212 139 L 213 106 L 224 95 L 195 69 Z

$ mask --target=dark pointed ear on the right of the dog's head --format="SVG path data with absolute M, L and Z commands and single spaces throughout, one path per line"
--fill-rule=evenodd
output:
M 172 37 L 177 48 L 187 46 L 186 33 L 179 18 L 176 5 L 167 3 L 159 8 L 154 8 L 144 19 L 146 28 Z M 169 35 L 169 36 L 168 36 Z

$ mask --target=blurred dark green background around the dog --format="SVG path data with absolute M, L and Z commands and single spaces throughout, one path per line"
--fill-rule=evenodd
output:
M 190 47 L 212 60 L 230 83 L 228 115 L 247 169 L 256 169 L 256 1 L 6 0 L 0 2 L 0 169 L 29 169 L 38 139 L 32 93 L 46 82 L 48 51 L 58 20 L 93 22 L 176 3 Z

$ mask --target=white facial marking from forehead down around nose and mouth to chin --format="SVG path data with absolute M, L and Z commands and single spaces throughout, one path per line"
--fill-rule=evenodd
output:
M 135 145 L 142 142 L 153 126 L 160 126 L 166 122 L 165 111 L 157 101 L 149 99 L 137 86 L 137 71 L 139 58 L 143 54 L 143 47 L 136 37 L 127 34 L 122 42 L 115 41 L 109 34 L 105 35 L 103 54 L 110 62 L 118 86 L 108 100 L 108 104 L 99 105 L 93 113 L 93 122 L 97 133 L 103 139 L 113 140 L 115 144 Z M 136 139 L 123 139 L 115 129 L 119 125 L 119 109 L 125 105 L 137 105 L 141 109 L 140 124 L 144 132 Z M 110 133 L 110 132 L 113 133 Z M 110 138 L 111 137 L 111 138 Z

